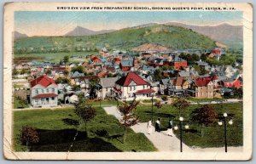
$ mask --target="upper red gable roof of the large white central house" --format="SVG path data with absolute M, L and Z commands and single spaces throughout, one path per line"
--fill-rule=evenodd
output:
M 149 85 L 148 82 L 144 81 L 141 76 L 138 76 L 137 73 L 133 71 L 129 72 L 126 76 L 119 78 L 116 83 L 127 87 L 131 84 L 131 82 L 135 82 L 137 85 Z

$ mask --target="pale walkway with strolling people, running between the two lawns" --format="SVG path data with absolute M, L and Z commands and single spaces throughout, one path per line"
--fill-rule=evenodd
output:
M 116 106 L 103 107 L 108 115 L 115 116 L 118 120 L 122 118 L 119 110 Z M 147 122 L 139 122 L 136 125 L 132 126 L 131 129 L 136 133 L 144 133 L 144 135 L 154 144 L 154 147 L 159 151 L 180 151 L 180 140 L 172 133 L 172 136 L 168 136 L 166 131 L 153 132 L 148 134 Z M 224 147 L 221 148 L 190 148 L 186 144 L 183 144 L 183 152 L 223 152 Z M 228 147 L 228 151 L 232 152 L 241 152 L 242 147 Z

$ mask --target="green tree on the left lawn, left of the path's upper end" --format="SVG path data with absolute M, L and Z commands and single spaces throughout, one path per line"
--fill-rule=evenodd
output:
M 91 105 L 85 104 L 84 97 L 79 95 L 79 103 L 75 105 L 74 112 L 77 116 L 79 116 L 80 124 L 83 120 L 85 132 L 87 132 L 86 124 L 96 116 L 95 108 L 93 108 Z

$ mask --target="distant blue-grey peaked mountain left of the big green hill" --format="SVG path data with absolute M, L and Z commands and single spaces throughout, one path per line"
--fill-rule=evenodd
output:
M 89 29 L 86 29 L 81 26 L 77 26 L 76 28 L 73 29 L 73 31 L 67 32 L 64 36 L 66 37 L 84 37 L 84 36 L 92 36 L 92 35 L 97 35 L 97 34 L 104 34 L 108 32 L 112 32 L 114 30 L 102 30 L 102 31 L 91 31 Z

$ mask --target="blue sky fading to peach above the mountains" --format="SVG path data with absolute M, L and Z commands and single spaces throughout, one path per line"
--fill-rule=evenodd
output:
M 101 31 L 148 23 L 242 25 L 242 13 L 214 11 L 16 11 L 15 31 L 27 36 L 61 36 L 76 26 Z

